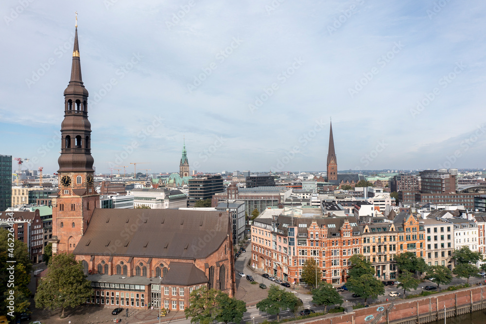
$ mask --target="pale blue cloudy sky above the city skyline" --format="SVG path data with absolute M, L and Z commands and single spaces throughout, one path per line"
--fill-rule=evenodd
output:
M 486 2 L 5 0 L 0 154 L 55 172 L 75 15 L 97 172 L 484 168 Z M 14 165 L 16 168 L 16 165 Z M 143 171 L 142 171 L 143 170 Z

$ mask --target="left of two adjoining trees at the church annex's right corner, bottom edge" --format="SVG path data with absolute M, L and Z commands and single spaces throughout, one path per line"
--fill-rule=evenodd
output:
M 192 290 L 189 295 L 189 306 L 184 309 L 186 319 L 191 317 L 191 323 L 200 322 L 201 324 L 212 323 L 218 315 L 216 297 L 219 290 L 206 286 Z

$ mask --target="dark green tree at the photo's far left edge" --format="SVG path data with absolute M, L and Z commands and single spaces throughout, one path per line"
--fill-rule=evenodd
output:
M 27 244 L 19 240 L 13 240 L 13 232 L 0 228 L 0 287 L 5 288 L 5 292 L 0 294 L 0 314 L 24 312 L 30 306 L 29 297 L 31 292 L 27 287 L 30 283 L 30 272 L 32 271 L 32 261 L 29 256 Z M 10 240 L 9 240 L 10 238 Z M 12 254 L 10 254 L 12 253 Z M 15 260 L 15 263 L 7 261 Z M 8 286 L 9 271 L 15 271 L 15 293 L 14 309 L 8 308 L 9 301 L 6 299 L 10 295 Z M 11 306 L 10 306 L 11 307 Z M 11 313 L 13 315 L 13 313 Z

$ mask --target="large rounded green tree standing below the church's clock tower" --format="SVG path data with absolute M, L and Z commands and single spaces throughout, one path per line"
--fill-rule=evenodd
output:
M 46 277 L 41 279 L 35 294 L 38 308 L 61 309 L 61 318 L 67 307 L 86 303 L 93 294 L 90 282 L 86 279 L 83 266 L 72 253 L 52 256 Z

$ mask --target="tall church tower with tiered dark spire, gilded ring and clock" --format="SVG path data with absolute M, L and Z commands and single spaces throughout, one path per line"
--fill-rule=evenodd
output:
M 59 191 L 52 206 L 52 252 L 72 252 L 100 198 L 94 188 L 91 156 L 91 124 L 88 121 L 88 91 L 81 78 L 78 29 L 74 34 L 71 79 L 64 90 L 64 120 L 61 124 Z

